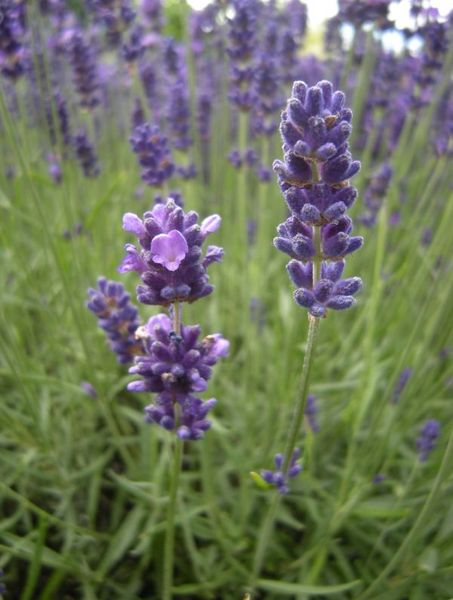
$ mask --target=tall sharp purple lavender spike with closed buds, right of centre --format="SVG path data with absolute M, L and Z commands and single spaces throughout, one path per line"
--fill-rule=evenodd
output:
M 349 308 L 362 287 L 359 277 L 341 279 L 345 257 L 363 243 L 346 215 L 357 196 L 349 179 L 360 163 L 349 151 L 352 112 L 344 104 L 329 81 L 296 81 L 280 125 L 284 160 L 273 165 L 291 211 L 274 245 L 293 259 L 287 269 L 294 299 L 313 317 Z

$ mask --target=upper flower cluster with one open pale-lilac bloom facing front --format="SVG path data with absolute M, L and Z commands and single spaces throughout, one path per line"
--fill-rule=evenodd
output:
M 220 221 L 218 215 L 211 215 L 198 225 L 198 214 L 185 213 L 172 199 L 156 204 L 143 220 L 126 213 L 123 228 L 137 236 L 141 250 L 126 244 L 119 271 L 140 274 L 143 285 L 137 287 L 138 300 L 166 306 L 209 295 L 213 286 L 209 284 L 207 268 L 222 259 L 223 250 L 208 246 L 203 256 L 202 244 L 218 229 Z

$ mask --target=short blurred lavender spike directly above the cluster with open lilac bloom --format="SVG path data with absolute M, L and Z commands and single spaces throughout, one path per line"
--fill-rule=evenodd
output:
M 159 187 L 170 179 L 175 165 L 168 140 L 157 125 L 139 125 L 134 129 L 130 143 L 143 167 L 142 179 L 145 183 Z

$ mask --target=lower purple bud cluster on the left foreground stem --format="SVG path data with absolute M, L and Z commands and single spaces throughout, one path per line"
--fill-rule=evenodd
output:
M 143 379 L 133 381 L 128 389 L 157 393 L 155 403 L 145 408 L 147 421 L 176 429 L 182 439 L 200 439 L 210 427 L 205 417 L 216 401 L 203 401 L 194 394 L 207 389 L 212 367 L 227 356 L 229 343 L 218 333 L 200 341 L 198 325 L 183 325 L 177 333 L 164 314 L 151 317 L 137 336 L 145 354 L 136 357 L 129 372 Z

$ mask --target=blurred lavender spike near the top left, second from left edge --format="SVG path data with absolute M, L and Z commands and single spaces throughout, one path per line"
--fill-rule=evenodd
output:
M 92 46 L 82 31 L 74 31 L 68 50 L 80 106 L 92 109 L 99 104 L 99 79 Z

